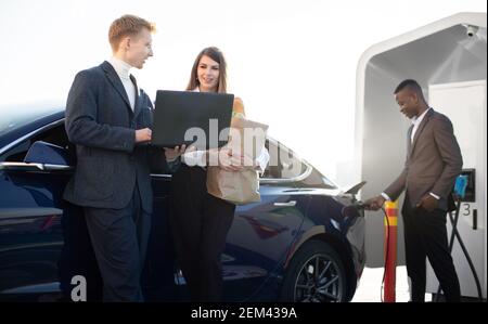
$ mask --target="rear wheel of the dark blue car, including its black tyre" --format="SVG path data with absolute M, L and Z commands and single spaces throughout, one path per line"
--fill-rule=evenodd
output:
M 321 241 L 305 243 L 286 269 L 281 300 L 345 301 L 346 271 L 337 252 Z

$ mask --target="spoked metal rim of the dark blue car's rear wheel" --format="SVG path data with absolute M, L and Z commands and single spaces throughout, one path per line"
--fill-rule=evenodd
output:
M 328 256 L 312 256 L 295 282 L 295 302 L 334 302 L 343 298 L 343 278 L 337 263 Z

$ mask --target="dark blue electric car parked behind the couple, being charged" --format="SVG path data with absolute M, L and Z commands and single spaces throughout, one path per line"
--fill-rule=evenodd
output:
M 5 112 L 0 300 L 69 300 L 77 275 L 87 281 L 88 300 L 100 300 L 102 282 L 84 218 L 62 199 L 76 167 L 64 109 Z M 266 145 L 271 160 L 260 179 L 261 202 L 236 208 L 227 238 L 226 300 L 350 300 L 364 267 L 364 219 L 343 212 L 356 192 L 341 191 L 281 143 L 268 139 Z M 170 174 L 152 174 L 155 208 L 142 277 L 150 301 L 188 300 L 167 225 L 170 181 Z

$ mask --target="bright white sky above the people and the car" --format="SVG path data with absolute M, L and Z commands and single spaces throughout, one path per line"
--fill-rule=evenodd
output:
M 345 185 L 336 166 L 352 159 L 361 54 L 455 13 L 486 11 L 485 0 L 0 0 L 0 106 L 64 104 L 75 74 L 110 57 L 112 21 L 131 13 L 157 26 L 154 57 L 133 70 L 153 100 L 157 89 L 183 90 L 200 50 L 217 46 L 248 117 Z

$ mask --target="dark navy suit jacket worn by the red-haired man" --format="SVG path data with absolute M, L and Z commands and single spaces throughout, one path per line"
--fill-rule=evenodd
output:
M 136 80 L 132 78 L 132 81 Z M 66 103 L 65 128 L 77 166 L 64 198 L 86 207 L 126 207 L 136 182 L 142 208 L 152 211 L 150 167 L 168 170 L 163 150 L 136 145 L 136 129 L 152 126 L 153 105 L 141 90 L 132 112 L 108 62 L 77 74 Z

